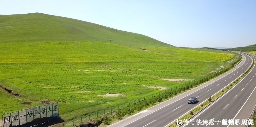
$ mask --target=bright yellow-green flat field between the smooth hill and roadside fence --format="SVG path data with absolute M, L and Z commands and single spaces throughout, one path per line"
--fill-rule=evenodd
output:
M 142 47 L 142 46 L 141 46 Z M 179 48 L 124 47 L 104 42 L 1 43 L 0 114 L 59 101 L 62 119 L 105 109 L 152 95 L 218 70 L 232 54 Z M 159 53 L 161 52 L 161 53 Z M 122 96 L 105 97 L 106 93 Z M 11 103 L 10 103 L 11 102 Z M 23 105 L 31 102 L 31 105 Z

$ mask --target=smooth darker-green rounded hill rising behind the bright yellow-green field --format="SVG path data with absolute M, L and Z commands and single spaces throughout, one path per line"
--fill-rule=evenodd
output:
M 65 17 L 29 13 L 0 15 L 1 42 L 43 40 L 101 41 L 121 45 L 168 46 L 151 37 Z

